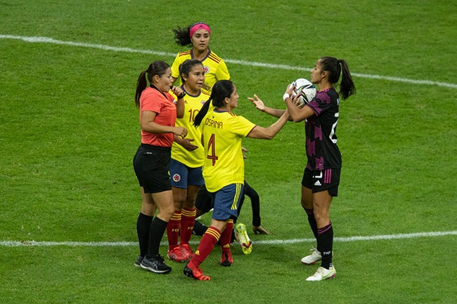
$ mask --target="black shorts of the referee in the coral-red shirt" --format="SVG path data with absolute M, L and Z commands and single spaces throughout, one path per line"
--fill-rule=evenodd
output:
M 139 184 L 145 193 L 172 190 L 169 164 L 172 158 L 170 147 L 141 144 L 134 157 L 134 169 Z

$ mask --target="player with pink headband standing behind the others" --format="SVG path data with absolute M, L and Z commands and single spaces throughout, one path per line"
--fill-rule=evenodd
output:
M 212 86 L 218 80 L 230 79 L 227 66 L 222 58 L 210 50 L 210 26 L 205 22 L 197 22 L 181 29 L 173 29 L 174 39 L 179 46 L 192 46 L 190 50 L 176 55 L 172 64 L 172 77 L 179 79 L 179 65 L 187 59 L 198 59 L 205 67 L 205 84 L 202 91 L 211 93 Z

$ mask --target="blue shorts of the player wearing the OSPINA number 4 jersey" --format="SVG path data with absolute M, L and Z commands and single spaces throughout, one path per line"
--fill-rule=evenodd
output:
M 212 218 L 214 220 L 236 220 L 238 218 L 238 206 L 243 194 L 243 184 L 231 184 L 217 192 L 209 192 L 214 202 Z

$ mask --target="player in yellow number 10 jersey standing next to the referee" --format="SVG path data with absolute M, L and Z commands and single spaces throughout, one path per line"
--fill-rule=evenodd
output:
M 205 83 L 205 71 L 202 62 L 188 59 L 179 67 L 184 92 L 184 117 L 176 119 L 176 126 L 188 130 L 186 138 L 174 137 L 172 161 L 169 168 L 172 176 L 174 214 L 168 222 L 168 258 L 183 262 L 191 258 L 193 251 L 189 246 L 195 223 L 195 198 L 201 185 L 205 184 L 202 176 L 203 147 L 198 128 L 193 126 L 198 113 L 210 95 L 201 91 Z M 181 239 L 178 244 L 178 239 Z

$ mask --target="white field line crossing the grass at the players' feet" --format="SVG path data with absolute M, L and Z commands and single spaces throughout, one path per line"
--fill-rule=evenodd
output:
M 437 231 L 437 232 L 415 232 L 402 234 L 382 234 L 372 236 L 359 237 L 335 237 L 334 242 L 347 243 L 357 241 L 383 241 L 392 239 L 416 239 L 419 237 L 442 237 L 446 235 L 457 235 L 457 230 L 453 231 Z M 271 239 L 267 241 L 255 241 L 254 244 L 297 244 L 311 243 L 315 239 Z M 197 244 L 197 242 L 191 242 Z M 162 242 L 162 245 L 167 245 L 167 242 Z M 72 246 L 72 247 L 127 247 L 138 246 L 138 242 L 36 242 L 36 241 L 0 241 L 0 246 L 6 247 L 47 247 L 47 246 Z

